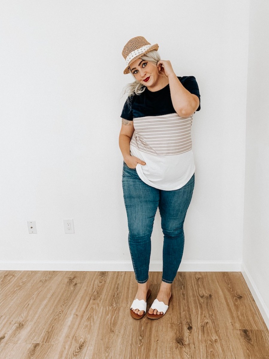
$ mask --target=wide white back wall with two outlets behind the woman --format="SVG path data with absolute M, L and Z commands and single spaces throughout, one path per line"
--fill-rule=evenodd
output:
M 1 2 L 1 270 L 132 270 L 118 135 L 132 81 L 121 52 L 134 36 L 159 43 L 200 88 L 180 270 L 240 270 L 247 4 Z M 65 234 L 71 218 L 75 234 Z M 150 270 L 162 270 L 162 241 L 157 211 Z

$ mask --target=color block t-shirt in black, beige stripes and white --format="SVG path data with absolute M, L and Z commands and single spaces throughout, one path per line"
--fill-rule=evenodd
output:
M 178 76 L 181 84 L 198 96 L 194 76 Z M 196 111 L 200 110 L 200 104 Z M 192 178 L 195 164 L 192 152 L 193 115 L 180 117 L 172 104 L 170 87 L 152 92 L 145 88 L 140 95 L 126 100 L 122 118 L 133 121 L 135 131 L 130 141 L 130 154 L 146 162 L 137 163 L 141 180 L 161 190 L 183 187 Z

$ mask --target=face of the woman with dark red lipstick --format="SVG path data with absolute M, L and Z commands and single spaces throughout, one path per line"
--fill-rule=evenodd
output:
M 155 65 L 153 62 L 136 59 L 130 67 L 136 80 L 146 87 L 152 87 L 156 85 L 160 79 L 157 65 Z

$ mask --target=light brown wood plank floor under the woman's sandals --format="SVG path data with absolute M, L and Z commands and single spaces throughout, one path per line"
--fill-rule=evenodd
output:
M 136 290 L 133 272 L 0 271 L 0 359 L 269 358 L 241 272 L 178 272 L 159 320 L 131 317 Z

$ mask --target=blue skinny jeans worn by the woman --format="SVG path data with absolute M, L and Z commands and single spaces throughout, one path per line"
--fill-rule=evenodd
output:
M 162 281 L 173 283 L 184 248 L 183 224 L 194 189 L 194 174 L 185 186 L 164 191 L 147 185 L 135 168 L 123 162 L 122 188 L 128 219 L 128 243 L 138 283 L 146 283 L 151 253 L 151 233 L 157 207 L 164 234 Z

